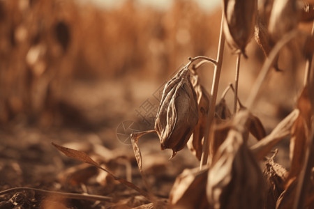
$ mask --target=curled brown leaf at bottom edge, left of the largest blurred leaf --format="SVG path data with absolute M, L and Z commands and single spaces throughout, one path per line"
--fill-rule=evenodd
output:
M 176 179 L 170 192 L 172 208 L 209 208 L 206 197 L 208 168 L 201 171 L 185 169 Z

